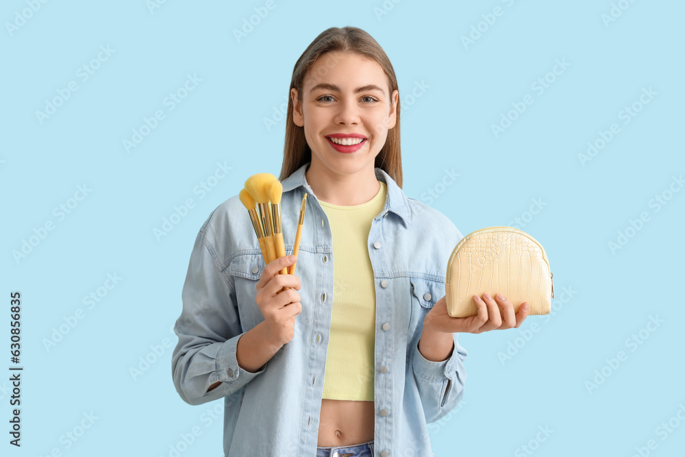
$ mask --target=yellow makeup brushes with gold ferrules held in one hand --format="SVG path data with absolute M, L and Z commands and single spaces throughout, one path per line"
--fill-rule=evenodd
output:
M 264 264 L 269 264 L 277 258 L 286 256 L 286 248 L 283 240 L 283 227 L 281 224 L 281 197 L 283 185 L 277 177 L 271 173 L 257 173 L 245 181 L 245 188 L 240 190 L 240 201 L 247 208 L 252 221 L 252 226 L 257 235 Z M 292 254 L 297 256 L 299 242 L 302 235 L 302 224 L 307 203 L 307 194 L 302 197 L 295 245 Z M 283 268 L 279 274 L 295 274 L 295 265 Z

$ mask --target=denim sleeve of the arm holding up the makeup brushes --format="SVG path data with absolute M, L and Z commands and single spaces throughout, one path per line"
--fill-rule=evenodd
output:
M 266 364 L 256 373 L 238 365 L 236 349 L 244 332 L 232 277 L 219 269 L 209 220 L 195 239 L 182 291 L 183 310 L 174 325 L 178 343 L 171 360 L 173 382 L 191 405 L 230 395 L 266 370 Z M 221 384 L 208 392 L 214 382 Z

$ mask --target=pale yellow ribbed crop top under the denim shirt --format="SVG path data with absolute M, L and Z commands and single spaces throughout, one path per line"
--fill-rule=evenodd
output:
M 319 200 L 333 234 L 334 299 L 323 398 L 373 401 L 376 294 L 369 259 L 371 221 L 385 206 L 387 188 L 353 206 Z

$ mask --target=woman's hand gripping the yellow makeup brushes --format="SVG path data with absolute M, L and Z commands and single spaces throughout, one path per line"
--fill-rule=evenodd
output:
M 292 259 L 292 260 L 291 260 Z M 301 288 L 299 277 L 281 275 L 284 267 L 290 267 L 297 256 L 279 257 L 272 260 L 262 270 L 257 282 L 257 306 L 264 316 L 266 334 L 270 343 L 282 347 L 292 340 L 295 334 L 295 317 L 302 312 L 300 295 L 295 291 Z M 284 287 L 290 287 L 282 290 Z

